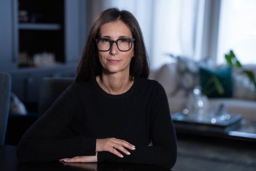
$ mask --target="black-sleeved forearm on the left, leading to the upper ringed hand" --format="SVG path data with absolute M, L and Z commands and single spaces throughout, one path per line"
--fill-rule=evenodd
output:
M 70 139 L 25 137 L 16 153 L 20 162 L 55 161 L 65 157 L 94 156 L 96 139 L 78 136 Z

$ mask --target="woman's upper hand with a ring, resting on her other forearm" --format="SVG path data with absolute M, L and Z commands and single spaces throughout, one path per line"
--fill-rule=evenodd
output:
M 135 146 L 128 143 L 125 140 L 120 140 L 117 138 L 96 139 L 96 152 L 108 151 L 122 158 L 123 155 L 119 153 L 116 149 L 119 149 L 124 154 L 127 154 L 127 155 L 131 154 L 124 147 L 129 148 L 131 150 L 135 150 Z

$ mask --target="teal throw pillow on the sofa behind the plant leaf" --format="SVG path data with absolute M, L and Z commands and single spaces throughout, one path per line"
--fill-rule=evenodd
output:
M 202 92 L 208 98 L 231 97 L 233 90 L 232 68 L 200 68 Z

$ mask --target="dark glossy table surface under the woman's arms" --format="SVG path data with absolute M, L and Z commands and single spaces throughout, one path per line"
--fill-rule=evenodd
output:
M 64 163 L 54 162 L 24 162 L 19 163 L 16 157 L 16 146 L 0 145 L 0 170 L 1 171 L 130 171 L 130 170 L 169 170 L 156 165 L 131 164 L 131 163 Z

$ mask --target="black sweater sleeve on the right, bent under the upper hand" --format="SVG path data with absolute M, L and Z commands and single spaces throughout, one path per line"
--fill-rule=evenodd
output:
M 98 162 L 156 164 L 171 169 L 177 159 L 177 140 L 167 96 L 159 83 L 153 95 L 150 122 L 153 146 L 136 147 L 133 151 L 129 150 L 130 155 L 123 154 L 123 158 L 101 151 L 97 154 Z

